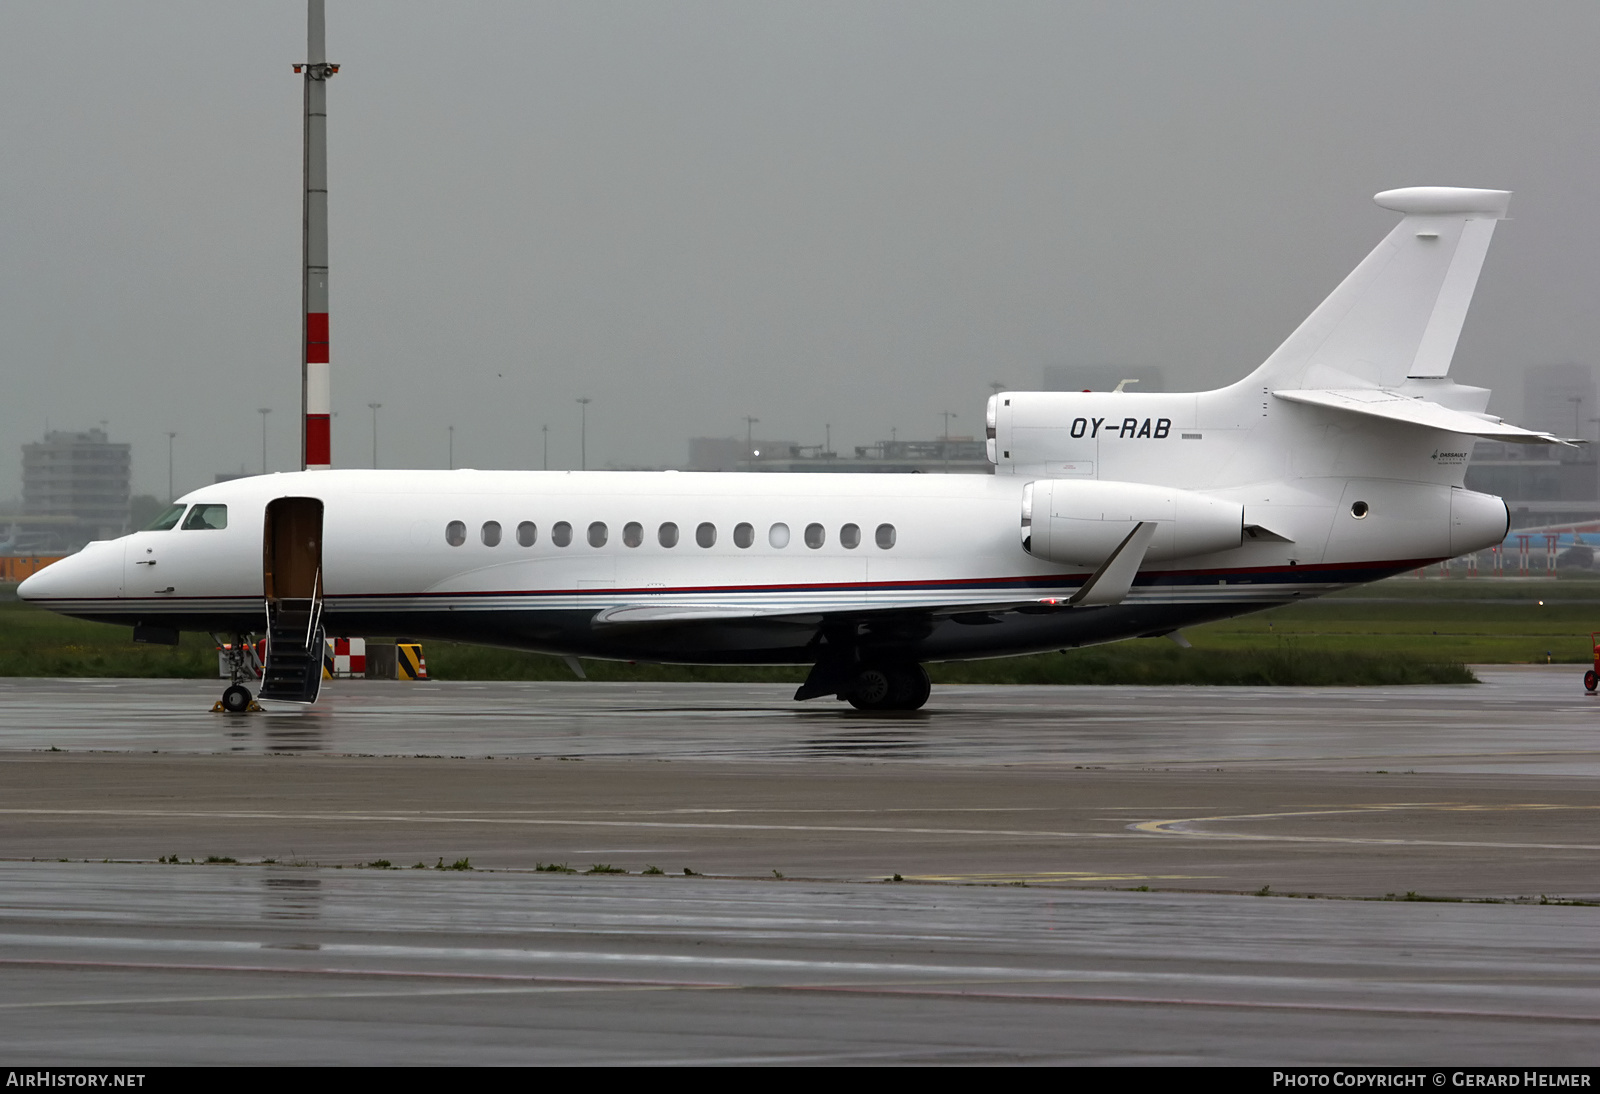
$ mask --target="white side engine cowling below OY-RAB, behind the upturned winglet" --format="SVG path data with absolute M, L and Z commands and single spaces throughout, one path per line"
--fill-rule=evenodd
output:
M 1040 478 L 1022 488 L 1022 547 L 1035 558 L 1099 566 L 1141 521 L 1155 521 L 1146 560 L 1190 558 L 1245 541 L 1242 502 L 1192 489 Z

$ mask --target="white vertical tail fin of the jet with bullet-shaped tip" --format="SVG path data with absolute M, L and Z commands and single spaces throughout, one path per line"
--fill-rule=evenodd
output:
M 1373 200 L 1405 219 L 1246 382 L 1394 387 L 1450 373 L 1510 190 L 1418 186 Z

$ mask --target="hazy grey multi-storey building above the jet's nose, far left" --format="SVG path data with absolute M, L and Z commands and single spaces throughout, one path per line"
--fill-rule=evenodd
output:
M 133 449 L 106 430 L 53 430 L 22 445 L 22 513 L 16 525 L 48 529 L 56 547 L 75 550 L 91 539 L 128 531 Z

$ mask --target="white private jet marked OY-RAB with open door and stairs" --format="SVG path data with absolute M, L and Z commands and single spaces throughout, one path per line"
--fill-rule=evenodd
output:
M 1568 443 L 1450 379 L 1509 198 L 1379 194 L 1398 226 L 1229 387 L 995 395 L 992 475 L 262 475 L 19 592 L 136 641 L 266 633 L 264 699 L 315 701 L 325 635 L 411 635 L 811 665 L 795 699 L 914 710 L 923 662 L 1179 637 L 1501 542 L 1472 438 Z

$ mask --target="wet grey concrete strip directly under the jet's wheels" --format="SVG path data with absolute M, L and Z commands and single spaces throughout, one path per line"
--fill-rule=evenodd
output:
M 1600 774 L 1600 701 L 1579 670 L 1478 675 L 1440 688 L 947 686 L 914 715 L 795 704 L 781 685 L 349 680 L 314 707 L 237 717 L 210 713 L 216 681 L 0 678 L 0 750 Z

